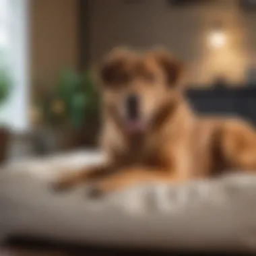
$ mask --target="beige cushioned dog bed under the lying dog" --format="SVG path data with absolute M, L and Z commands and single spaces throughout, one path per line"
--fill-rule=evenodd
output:
M 53 193 L 49 182 L 104 161 L 76 152 L 7 164 L 0 175 L 0 236 L 146 249 L 256 251 L 256 177 L 186 185 L 141 184 L 100 199 L 85 185 Z

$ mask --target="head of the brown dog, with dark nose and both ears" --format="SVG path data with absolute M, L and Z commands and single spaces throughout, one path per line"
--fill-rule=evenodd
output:
M 104 108 L 125 131 L 146 131 L 163 108 L 177 101 L 182 69 L 167 51 L 114 49 L 97 72 Z

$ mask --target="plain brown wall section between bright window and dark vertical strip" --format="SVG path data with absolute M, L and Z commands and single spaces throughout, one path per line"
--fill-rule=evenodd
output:
M 30 0 L 33 82 L 53 82 L 68 65 L 77 68 L 77 0 Z

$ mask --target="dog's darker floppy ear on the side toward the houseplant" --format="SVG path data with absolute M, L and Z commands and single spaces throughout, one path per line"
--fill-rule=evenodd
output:
M 105 55 L 96 67 L 96 76 L 100 84 L 115 85 L 127 79 L 125 64 L 129 50 L 124 47 L 115 48 Z

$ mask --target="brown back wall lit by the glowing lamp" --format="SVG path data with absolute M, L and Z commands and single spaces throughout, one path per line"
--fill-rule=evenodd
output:
M 150 47 L 164 45 L 187 63 L 187 82 L 209 84 L 216 75 L 242 83 L 245 69 L 256 57 L 256 13 L 246 14 L 236 1 L 213 1 L 204 7 L 172 9 L 164 0 L 89 0 L 90 58 L 120 44 Z M 207 35 L 222 21 L 227 42 L 212 49 Z

